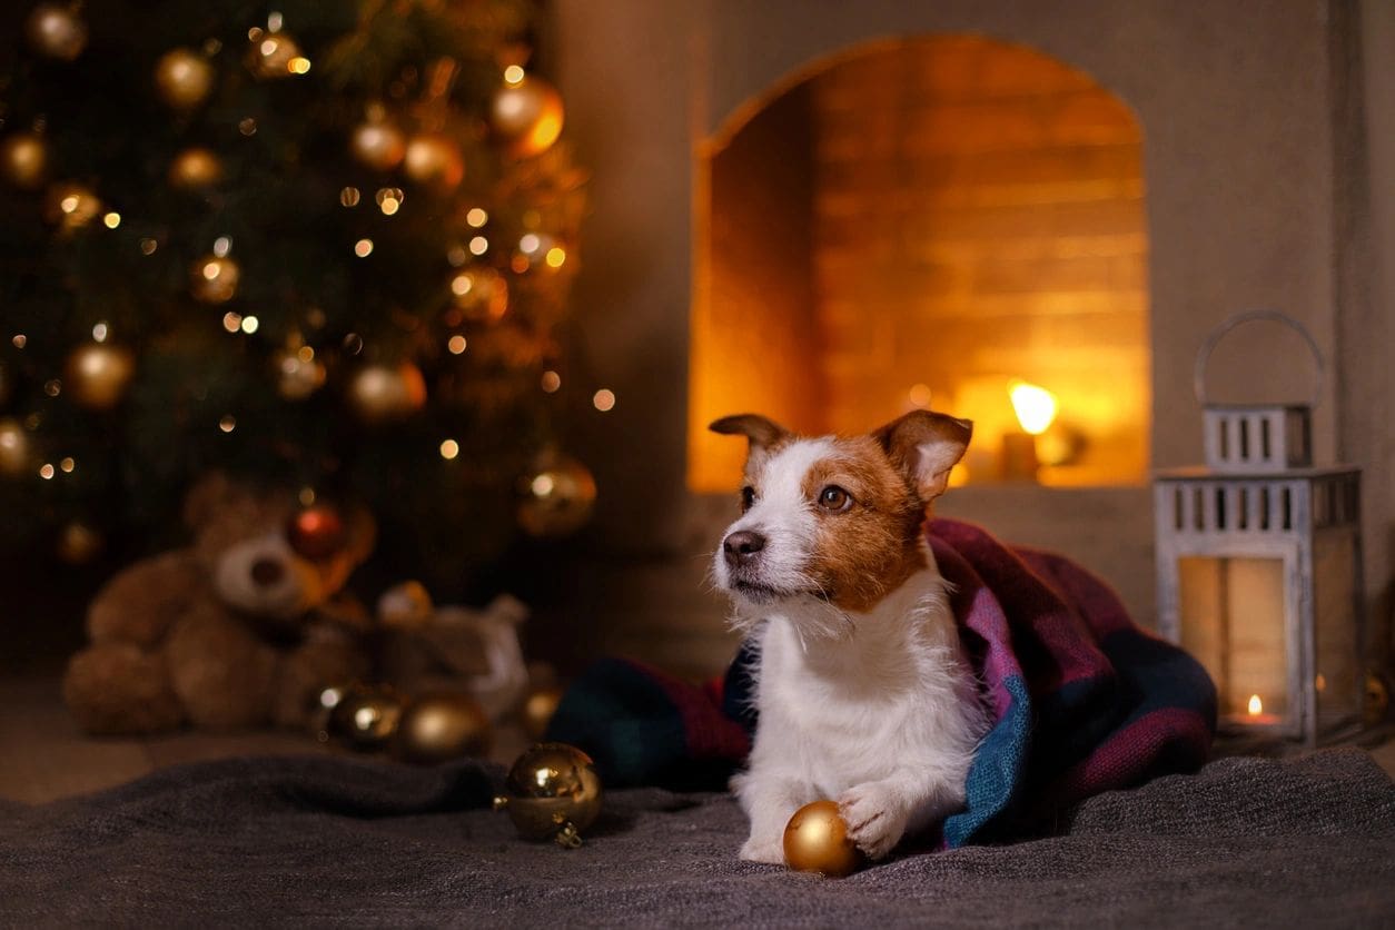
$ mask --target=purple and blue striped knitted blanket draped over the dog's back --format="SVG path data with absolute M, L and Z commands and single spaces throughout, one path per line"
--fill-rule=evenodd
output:
M 1211 679 L 1136 626 L 1105 583 L 968 523 L 933 520 L 928 537 L 996 721 L 946 846 L 1050 832 L 1091 795 L 1207 760 Z M 548 739 L 590 753 L 608 786 L 721 788 L 751 749 L 753 661 L 746 646 L 725 676 L 695 686 L 603 660 L 564 694 Z

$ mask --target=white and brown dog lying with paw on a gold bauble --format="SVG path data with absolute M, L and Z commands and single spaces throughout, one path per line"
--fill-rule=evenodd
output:
M 755 743 L 731 782 L 751 821 L 739 855 L 784 863 L 790 817 L 829 798 L 880 859 L 963 807 L 989 729 L 923 533 L 972 424 L 915 410 L 859 436 L 759 414 L 710 429 L 749 441 L 742 514 L 713 556 L 759 647 Z

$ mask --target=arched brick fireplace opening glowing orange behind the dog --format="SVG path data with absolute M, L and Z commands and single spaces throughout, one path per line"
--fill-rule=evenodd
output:
M 1089 75 L 982 36 L 861 45 L 699 162 L 691 489 L 738 480 L 716 417 L 858 432 L 917 406 L 975 421 L 957 482 L 1144 481 L 1143 134 Z

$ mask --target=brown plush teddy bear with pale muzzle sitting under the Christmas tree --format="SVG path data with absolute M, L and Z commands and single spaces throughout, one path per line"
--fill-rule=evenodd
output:
M 325 686 L 370 673 L 371 619 L 342 597 L 372 549 L 367 512 L 211 474 L 184 521 L 187 548 L 120 570 L 88 607 L 63 679 L 82 729 L 308 726 Z

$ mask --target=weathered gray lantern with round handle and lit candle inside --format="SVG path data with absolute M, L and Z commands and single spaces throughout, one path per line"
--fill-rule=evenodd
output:
M 1208 403 L 1211 350 L 1251 321 L 1232 317 L 1197 356 L 1205 467 L 1156 475 L 1158 625 L 1216 683 L 1222 731 L 1307 745 L 1360 721 L 1360 471 L 1311 464 L 1311 404 Z M 1314 396 L 1318 392 L 1314 390 Z

